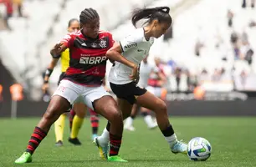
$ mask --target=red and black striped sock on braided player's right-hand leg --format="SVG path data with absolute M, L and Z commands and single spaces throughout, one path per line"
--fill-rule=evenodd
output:
M 121 143 L 122 136 L 110 134 L 110 156 L 118 155 Z

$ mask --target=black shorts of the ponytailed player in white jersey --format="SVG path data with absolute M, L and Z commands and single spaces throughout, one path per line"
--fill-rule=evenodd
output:
M 110 88 L 117 98 L 125 99 L 130 104 L 136 103 L 136 96 L 141 96 L 146 93 L 146 89 L 141 89 L 134 82 L 126 84 L 110 83 Z

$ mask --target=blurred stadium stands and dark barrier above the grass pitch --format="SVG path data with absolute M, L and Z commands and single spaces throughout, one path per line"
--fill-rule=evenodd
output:
M 133 28 L 130 17 L 134 8 L 171 7 L 173 26 L 156 40 L 149 57 L 152 64 L 154 58 L 161 59 L 161 67 L 168 77 L 166 100 L 189 101 L 189 104 L 191 101 L 201 104 L 194 99 L 214 101 L 215 104 L 210 104 L 220 108 L 225 104 L 218 105 L 218 101 L 233 104 L 230 101 L 239 100 L 243 101 L 239 103 L 244 109 L 241 114 L 255 114 L 250 108 L 251 100 L 256 97 L 254 1 L 1 0 L 0 84 L 3 91 L 0 115 L 9 115 L 10 87 L 15 83 L 23 89 L 18 113 L 26 110 L 27 104 L 37 106 L 48 101 L 41 86 L 42 75 L 51 58 L 49 49 L 66 34 L 69 19 L 79 18 L 80 11 L 89 7 L 88 4 L 100 13 L 101 29 L 113 33 L 116 41 Z M 107 71 L 109 68 L 110 64 Z M 50 78 L 51 94 L 56 89 L 59 73 L 57 67 Z M 243 105 L 246 103 L 248 105 Z M 236 113 L 240 109 L 239 106 L 226 109 L 228 106 L 215 110 Z M 183 110 L 186 113 L 187 109 Z

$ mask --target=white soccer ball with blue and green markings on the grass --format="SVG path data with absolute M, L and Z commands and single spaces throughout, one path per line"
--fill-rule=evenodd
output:
M 187 145 L 187 155 L 189 159 L 205 161 L 211 156 L 212 146 L 207 139 L 197 137 L 189 141 Z

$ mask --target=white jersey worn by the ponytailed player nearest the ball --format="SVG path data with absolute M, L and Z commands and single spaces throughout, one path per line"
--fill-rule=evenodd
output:
M 138 28 L 131 35 L 127 36 L 120 41 L 120 47 L 123 50 L 122 55 L 129 61 L 139 65 L 141 61 L 146 58 L 154 43 L 154 38 L 150 38 L 148 41 L 144 35 L 144 29 Z M 131 83 L 129 78 L 132 69 L 123 63 L 115 62 L 115 66 L 110 69 L 109 80 L 110 83 L 125 84 Z

